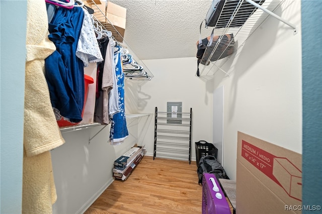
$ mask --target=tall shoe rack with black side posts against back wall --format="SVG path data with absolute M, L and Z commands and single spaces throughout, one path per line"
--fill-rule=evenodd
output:
M 190 113 L 158 112 L 155 107 L 154 151 L 155 157 L 187 160 L 191 163 L 192 108 Z M 178 117 L 176 117 L 178 116 Z

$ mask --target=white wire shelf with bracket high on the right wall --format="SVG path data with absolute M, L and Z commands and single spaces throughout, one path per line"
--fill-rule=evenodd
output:
M 213 27 L 214 36 L 218 35 L 219 37 L 218 42 L 215 42 L 210 47 L 206 48 L 201 60 L 203 61 L 203 64 L 199 65 L 200 76 L 212 76 L 218 70 L 224 72 L 226 76 L 229 76 L 229 74 L 221 67 L 232 55 L 234 55 L 234 53 L 237 52 L 240 47 L 245 44 L 247 39 L 263 24 L 263 22 L 269 16 L 273 16 L 288 25 L 290 29 L 293 29 L 295 35 L 297 33 L 296 26 L 274 13 L 284 2 L 285 0 L 262 0 L 256 2 L 252 0 L 226 0 L 220 12 L 217 24 L 215 27 Z M 243 14 L 245 13 L 245 5 L 248 5 L 247 7 L 249 8 L 253 8 L 251 16 L 248 14 L 248 12 L 247 14 Z M 231 15 L 232 11 L 233 13 Z M 229 12 L 229 18 L 227 18 L 227 12 Z M 244 17 L 249 16 L 247 21 L 242 26 L 235 27 L 234 21 L 236 21 L 236 19 L 240 19 L 240 17 L 243 17 L 243 15 Z M 233 35 L 233 40 L 226 42 L 229 42 L 230 46 L 234 46 L 234 52 L 227 57 L 220 58 L 220 56 L 224 55 L 225 51 L 227 51 L 226 47 L 222 48 L 222 46 L 219 45 L 219 43 L 222 44 L 222 42 L 225 42 L 220 42 L 220 39 L 224 39 L 222 36 L 226 34 Z

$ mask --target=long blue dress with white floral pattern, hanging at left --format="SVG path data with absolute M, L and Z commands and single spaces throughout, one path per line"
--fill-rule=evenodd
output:
M 122 50 L 119 45 L 115 46 L 115 48 L 117 49 L 117 51 L 114 53 L 114 57 L 120 112 L 115 114 L 112 119 L 112 125 L 110 130 L 110 141 L 112 145 L 120 144 L 128 137 L 124 105 L 124 73 L 121 59 Z

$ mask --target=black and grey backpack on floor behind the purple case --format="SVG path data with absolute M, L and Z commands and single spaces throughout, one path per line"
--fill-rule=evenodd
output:
M 226 175 L 226 171 L 224 170 L 224 168 L 217 161 L 217 159 L 212 155 L 204 156 L 199 161 L 199 165 L 197 169 L 199 184 L 202 184 L 203 173 L 212 173 L 216 176 L 217 179 L 219 178 L 229 179 L 229 177 Z

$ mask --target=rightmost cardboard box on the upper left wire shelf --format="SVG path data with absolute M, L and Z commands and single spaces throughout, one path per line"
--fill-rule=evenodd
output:
M 110 23 L 107 22 L 105 25 L 107 30 L 112 32 L 113 37 L 117 41 L 123 42 L 126 27 L 126 8 L 107 2 L 106 17 L 110 21 Z

